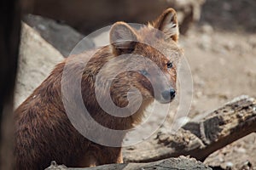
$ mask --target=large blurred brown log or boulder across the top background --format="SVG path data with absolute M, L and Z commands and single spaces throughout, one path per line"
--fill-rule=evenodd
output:
M 25 1 L 27 13 L 43 15 L 55 20 L 64 20 L 80 32 L 88 34 L 113 22 L 147 24 L 166 8 L 177 10 L 181 33 L 201 15 L 205 0 L 35 0 Z M 56 10 L 56 9 L 60 10 Z

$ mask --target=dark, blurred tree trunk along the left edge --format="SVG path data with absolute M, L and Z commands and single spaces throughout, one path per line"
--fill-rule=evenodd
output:
M 20 3 L 0 4 L 0 169 L 13 169 L 13 104 L 20 43 Z

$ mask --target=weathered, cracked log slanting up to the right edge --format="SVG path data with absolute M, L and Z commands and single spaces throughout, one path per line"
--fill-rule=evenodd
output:
M 204 161 L 215 150 L 256 132 L 256 101 L 241 96 L 216 111 L 195 117 L 177 133 L 161 131 L 141 144 L 124 148 L 124 161 L 150 162 L 176 156 Z

